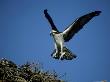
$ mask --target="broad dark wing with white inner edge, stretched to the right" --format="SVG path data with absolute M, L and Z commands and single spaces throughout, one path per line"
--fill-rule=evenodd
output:
M 64 41 L 69 41 L 75 33 L 77 33 L 83 26 L 88 23 L 93 17 L 98 16 L 101 11 L 94 11 L 84 16 L 81 16 L 76 21 L 74 21 L 68 28 L 63 32 Z

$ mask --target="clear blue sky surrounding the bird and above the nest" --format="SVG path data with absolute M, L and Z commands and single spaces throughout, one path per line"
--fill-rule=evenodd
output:
M 54 44 L 44 9 L 60 31 L 77 17 L 102 11 L 67 43 L 77 55 L 75 60 L 58 61 L 50 56 Z M 0 58 L 16 64 L 39 61 L 46 70 L 66 73 L 62 79 L 69 82 L 110 82 L 109 20 L 109 0 L 0 0 Z

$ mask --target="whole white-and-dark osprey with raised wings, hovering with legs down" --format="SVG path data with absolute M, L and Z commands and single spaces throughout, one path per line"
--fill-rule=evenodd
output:
M 52 57 L 55 59 L 61 60 L 72 60 L 77 56 L 73 54 L 68 48 L 65 47 L 64 42 L 68 42 L 83 26 L 88 23 L 93 17 L 98 16 L 101 11 L 94 11 L 83 15 L 77 18 L 69 27 L 67 27 L 63 32 L 59 32 L 53 23 L 52 18 L 47 12 L 47 9 L 44 10 L 45 17 L 51 25 L 52 31 L 51 35 L 53 36 L 55 42 L 55 50 L 52 53 Z

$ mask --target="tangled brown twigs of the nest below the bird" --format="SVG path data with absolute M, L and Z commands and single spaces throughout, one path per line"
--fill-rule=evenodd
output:
M 17 66 L 7 59 L 0 60 L 0 82 L 64 82 L 56 72 L 41 71 L 39 64 Z

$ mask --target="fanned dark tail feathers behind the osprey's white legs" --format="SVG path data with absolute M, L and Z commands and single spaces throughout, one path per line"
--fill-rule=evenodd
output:
M 75 54 L 73 54 L 68 48 L 64 47 L 63 48 L 63 52 L 65 52 L 64 56 L 62 57 L 61 60 L 72 60 L 74 58 L 76 58 L 77 56 Z M 53 51 L 53 53 L 51 54 L 51 56 L 53 56 L 53 54 L 55 54 L 55 56 L 53 58 L 55 59 L 59 59 L 61 54 L 58 52 L 56 53 L 56 49 Z

